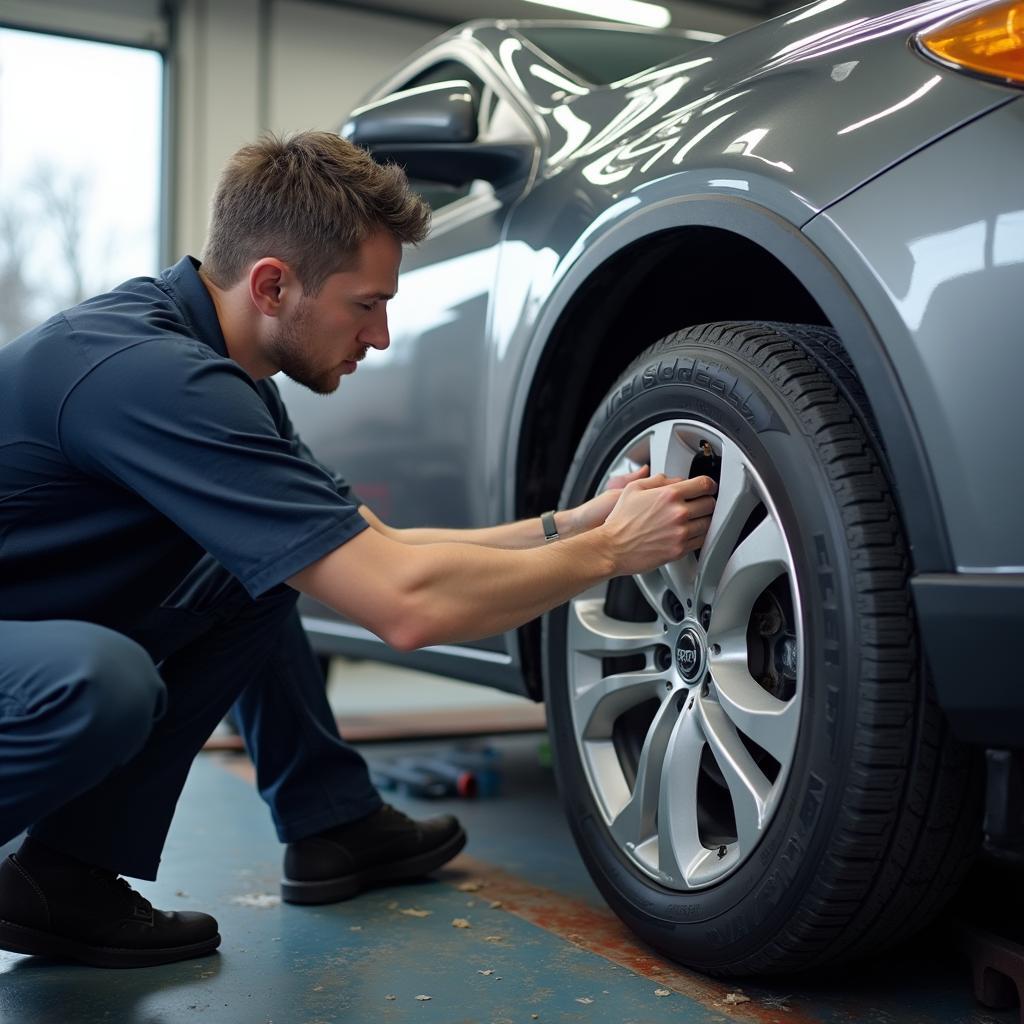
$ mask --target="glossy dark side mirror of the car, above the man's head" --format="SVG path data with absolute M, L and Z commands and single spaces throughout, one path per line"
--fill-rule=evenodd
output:
M 476 141 L 479 105 L 469 82 L 422 85 L 354 110 L 341 134 L 421 181 L 459 186 L 481 178 L 500 185 L 528 173 L 532 146 Z

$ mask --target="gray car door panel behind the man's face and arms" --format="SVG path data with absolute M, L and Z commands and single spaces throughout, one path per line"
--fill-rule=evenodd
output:
M 481 147 L 507 142 L 532 152 L 526 118 L 486 69 L 438 60 L 395 92 L 451 81 L 478 90 Z M 490 292 L 503 225 L 531 163 L 498 185 L 411 175 L 434 219 L 428 239 L 404 254 L 398 293 L 388 305 L 390 348 L 371 352 L 327 397 L 279 378 L 306 443 L 390 525 L 470 526 L 486 519 L 481 463 Z M 504 641 L 481 646 L 504 650 Z

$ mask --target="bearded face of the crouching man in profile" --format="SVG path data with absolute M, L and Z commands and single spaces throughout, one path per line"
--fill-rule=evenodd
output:
M 390 344 L 387 302 L 398 288 L 401 245 L 386 231 L 368 238 L 350 270 L 333 273 L 315 297 L 282 316 L 267 355 L 317 394 L 330 394 L 371 348 Z

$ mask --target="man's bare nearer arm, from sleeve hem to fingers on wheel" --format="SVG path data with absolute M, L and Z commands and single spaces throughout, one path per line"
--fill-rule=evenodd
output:
M 288 582 L 399 650 L 514 629 L 615 575 L 645 572 L 698 548 L 715 482 L 637 480 L 600 526 L 510 551 L 399 544 L 364 530 Z

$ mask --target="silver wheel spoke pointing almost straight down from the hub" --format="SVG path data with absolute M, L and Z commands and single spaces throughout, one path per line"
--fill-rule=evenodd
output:
M 657 805 L 657 868 L 677 888 L 705 850 L 697 831 L 697 773 L 705 737 L 692 711 L 684 710 L 669 739 Z

